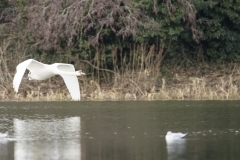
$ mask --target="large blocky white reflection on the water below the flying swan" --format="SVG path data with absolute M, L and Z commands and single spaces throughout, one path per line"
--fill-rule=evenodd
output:
M 80 160 L 80 117 L 14 119 L 15 160 Z

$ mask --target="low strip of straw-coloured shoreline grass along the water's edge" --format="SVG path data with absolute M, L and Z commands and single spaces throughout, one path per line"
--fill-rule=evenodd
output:
M 82 101 L 238 100 L 239 80 L 238 74 L 201 78 L 176 74 L 100 85 L 85 77 L 79 78 L 79 83 Z M 4 87 L 0 101 L 72 101 L 61 77 L 22 83 L 17 94 L 9 87 L 12 85 Z

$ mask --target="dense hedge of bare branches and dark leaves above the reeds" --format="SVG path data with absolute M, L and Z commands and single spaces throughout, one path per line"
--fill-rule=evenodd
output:
M 140 54 L 143 44 L 161 59 L 228 62 L 240 55 L 234 0 L 1 0 L 0 12 L 1 44 L 21 39 L 30 57 L 61 54 L 113 70 L 131 63 L 130 52 Z

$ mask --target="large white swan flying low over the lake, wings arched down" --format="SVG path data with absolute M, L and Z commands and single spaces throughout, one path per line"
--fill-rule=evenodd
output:
M 13 78 L 13 88 L 15 92 L 18 92 L 23 75 L 26 69 L 28 69 L 29 80 L 45 80 L 54 75 L 60 75 L 63 78 L 72 99 L 76 101 L 80 100 L 80 88 L 77 76 L 85 75 L 85 73 L 81 70 L 75 71 L 72 64 L 54 63 L 49 65 L 38 62 L 34 59 L 28 59 L 20 63 L 16 69 L 17 72 Z

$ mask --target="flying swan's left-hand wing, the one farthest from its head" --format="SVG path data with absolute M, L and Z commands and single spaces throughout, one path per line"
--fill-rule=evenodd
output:
M 19 85 L 22 81 L 22 77 L 27 69 L 27 67 L 29 66 L 29 64 L 34 61 L 33 59 L 28 59 L 26 61 L 23 61 L 22 63 L 20 63 L 17 66 L 17 73 L 15 74 L 14 78 L 13 78 L 13 88 L 15 92 L 18 92 L 18 88 Z

